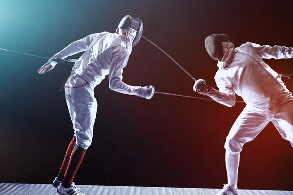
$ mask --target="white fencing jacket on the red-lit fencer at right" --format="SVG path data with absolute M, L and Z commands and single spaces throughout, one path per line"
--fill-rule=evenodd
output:
M 248 105 L 272 112 L 284 84 L 279 74 L 262 59 L 293 58 L 293 48 L 246 42 L 235 48 L 234 52 L 229 52 L 229 48 L 233 47 L 231 44 L 223 43 L 224 55 L 226 53 L 232 58 L 230 63 L 223 67 L 224 62 L 218 61 L 218 67 L 222 68 L 214 78 L 219 91 L 227 95 L 226 99 L 235 100 L 236 93 Z M 235 104 L 234 101 L 218 102 L 226 106 Z

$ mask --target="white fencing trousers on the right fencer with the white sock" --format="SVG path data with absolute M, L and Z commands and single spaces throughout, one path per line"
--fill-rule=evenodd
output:
M 240 153 L 243 145 L 252 141 L 270 121 L 293 147 L 293 96 L 286 87 L 280 92 L 272 111 L 246 105 L 226 138 L 227 152 L 231 155 Z

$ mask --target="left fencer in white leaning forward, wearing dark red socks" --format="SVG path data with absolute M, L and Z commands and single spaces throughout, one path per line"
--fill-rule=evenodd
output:
M 74 136 L 70 142 L 58 176 L 53 181 L 60 195 L 82 195 L 73 178 L 91 145 L 97 112 L 94 88 L 109 75 L 109 88 L 119 93 L 150 99 L 154 87 L 127 85 L 122 81 L 132 47 L 143 33 L 141 20 L 126 15 L 119 23 L 116 33 L 102 32 L 77 40 L 54 55 L 38 71 L 44 74 L 57 64 L 56 59 L 84 52 L 75 62 L 64 90 L 69 114 L 73 123 Z

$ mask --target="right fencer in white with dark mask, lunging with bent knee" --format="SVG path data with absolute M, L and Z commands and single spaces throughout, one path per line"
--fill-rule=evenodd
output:
M 205 39 L 209 56 L 218 61 L 215 81 L 219 90 L 202 82 L 194 90 L 228 107 L 234 106 L 235 94 L 246 107 L 232 125 L 226 138 L 228 184 L 216 195 L 238 195 L 239 154 L 272 121 L 280 135 L 293 146 L 293 96 L 281 77 L 262 59 L 293 58 L 293 48 L 246 42 L 234 48 L 226 34 Z

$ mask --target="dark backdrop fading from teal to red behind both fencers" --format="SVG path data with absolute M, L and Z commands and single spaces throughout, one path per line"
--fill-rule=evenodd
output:
M 216 61 L 204 39 L 226 33 L 236 47 L 246 41 L 293 46 L 290 2 L 11 0 L 0 5 L 6 13 L 0 48 L 51 57 L 86 35 L 114 32 L 129 14 L 144 22 L 146 38 L 193 77 L 216 87 Z M 293 73 L 293 59 L 265 61 L 278 73 Z M 37 74 L 45 62 L 0 51 L 1 183 L 51 183 L 73 136 L 59 91 L 66 69 L 58 64 Z M 127 84 L 204 98 L 193 92 L 192 79 L 144 39 L 133 48 L 123 76 Z M 293 81 L 283 80 L 292 91 Z M 76 184 L 222 188 L 227 183 L 224 143 L 245 104 L 228 108 L 160 94 L 146 100 L 111 91 L 107 77 L 95 97 L 94 138 Z M 272 123 L 244 146 L 240 159 L 240 189 L 293 190 L 293 149 Z

